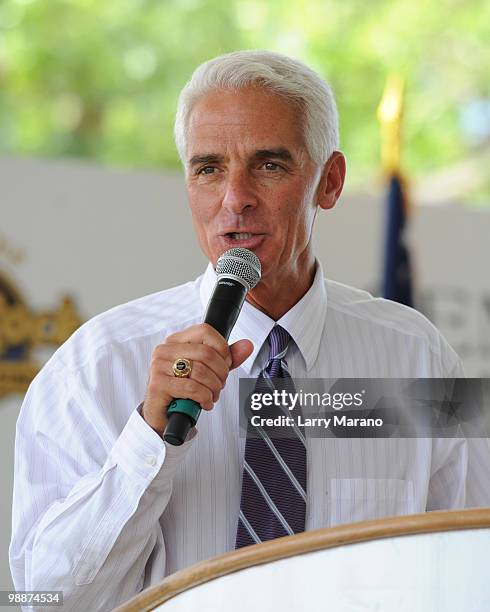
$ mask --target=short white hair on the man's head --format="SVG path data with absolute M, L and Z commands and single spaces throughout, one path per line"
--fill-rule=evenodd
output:
M 335 99 L 314 70 L 273 51 L 236 51 L 201 64 L 180 93 L 174 136 L 184 166 L 189 119 L 199 98 L 212 90 L 249 85 L 264 87 L 301 109 L 305 146 L 315 163 L 324 164 L 338 149 Z

